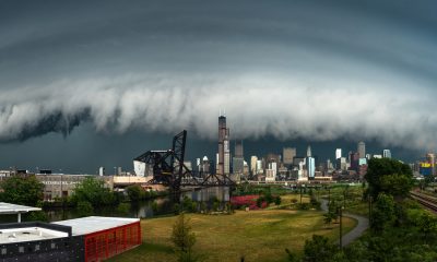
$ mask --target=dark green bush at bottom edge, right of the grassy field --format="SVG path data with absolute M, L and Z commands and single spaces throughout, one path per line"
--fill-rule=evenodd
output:
M 338 245 L 330 242 L 327 237 L 312 235 L 311 240 L 305 241 L 304 261 L 306 262 L 330 262 L 338 253 Z

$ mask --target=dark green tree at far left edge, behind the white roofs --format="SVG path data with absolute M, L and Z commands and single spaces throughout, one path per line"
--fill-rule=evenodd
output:
M 0 183 L 1 201 L 35 206 L 43 200 L 44 184 L 35 176 L 14 176 Z

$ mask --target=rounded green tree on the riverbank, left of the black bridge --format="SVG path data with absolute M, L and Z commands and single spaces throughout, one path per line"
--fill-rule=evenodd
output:
M 93 177 L 85 178 L 79 183 L 72 194 L 72 202 L 88 202 L 94 207 L 102 205 L 116 204 L 116 198 L 108 188 L 105 188 L 104 181 Z

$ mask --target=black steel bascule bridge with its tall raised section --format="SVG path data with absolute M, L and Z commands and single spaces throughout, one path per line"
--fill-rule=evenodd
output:
M 180 192 L 180 188 L 185 186 L 235 186 L 235 182 L 226 175 L 209 174 L 204 178 L 204 174 L 194 176 L 184 164 L 186 141 L 187 131 L 184 130 L 173 138 L 172 150 L 147 151 L 134 158 L 153 169 L 153 179 L 147 183 L 168 186 L 173 192 Z

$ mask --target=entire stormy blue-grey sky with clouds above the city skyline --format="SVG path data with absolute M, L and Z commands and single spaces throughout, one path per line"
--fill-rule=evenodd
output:
M 412 159 L 436 148 L 436 10 L 0 0 L 0 168 L 128 168 L 182 129 L 192 158 L 212 156 L 221 108 L 247 153 L 312 143 L 333 157 L 363 140 Z

